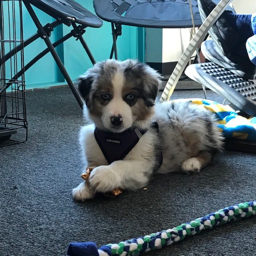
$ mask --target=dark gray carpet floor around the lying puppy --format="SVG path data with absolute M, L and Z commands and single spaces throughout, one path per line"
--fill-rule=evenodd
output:
M 202 90 L 173 98 L 203 98 Z M 82 180 L 84 124 L 68 87 L 28 91 L 28 141 L 0 148 L 0 255 L 66 255 L 69 242 L 98 246 L 172 228 L 256 198 L 256 157 L 224 151 L 199 174 L 154 176 L 148 190 L 72 199 Z M 208 91 L 208 99 L 222 98 Z M 170 142 L 171 143 L 171 142 Z M 256 217 L 201 232 L 148 256 L 255 255 Z

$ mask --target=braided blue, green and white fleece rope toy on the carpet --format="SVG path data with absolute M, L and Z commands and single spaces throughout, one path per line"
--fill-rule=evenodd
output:
M 200 233 L 226 224 L 231 220 L 239 220 L 256 215 L 256 200 L 226 207 L 202 218 L 186 222 L 175 228 L 132 238 L 118 244 L 107 244 L 99 249 L 94 242 L 72 242 L 68 246 L 68 256 L 130 256 L 150 250 L 164 248 L 187 236 Z

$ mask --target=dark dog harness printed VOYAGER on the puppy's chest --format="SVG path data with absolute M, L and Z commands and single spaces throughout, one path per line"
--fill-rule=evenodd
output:
M 150 127 L 155 128 L 156 131 L 159 132 L 158 123 L 154 122 Z M 111 164 L 116 160 L 122 160 L 146 132 L 147 130 L 129 128 L 123 132 L 115 133 L 106 132 L 96 127 L 94 136 L 106 160 Z M 160 167 L 162 164 L 162 157 L 159 164 Z

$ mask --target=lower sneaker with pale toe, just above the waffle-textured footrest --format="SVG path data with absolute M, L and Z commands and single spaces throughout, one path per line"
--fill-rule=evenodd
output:
M 250 62 L 249 57 L 238 56 L 236 54 L 228 54 L 226 56 L 213 40 L 202 42 L 201 51 L 208 60 L 228 69 L 237 76 L 245 80 L 255 78 L 256 66 Z

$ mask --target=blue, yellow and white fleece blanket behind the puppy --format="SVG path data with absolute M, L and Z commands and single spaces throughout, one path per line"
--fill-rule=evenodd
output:
M 191 103 L 211 111 L 216 116 L 218 127 L 225 138 L 256 141 L 256 117 L 247 119 L 239 116 L 228 105 L 212 100 L 189 99 Z

